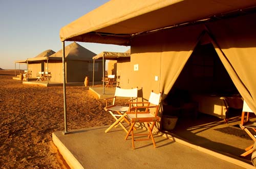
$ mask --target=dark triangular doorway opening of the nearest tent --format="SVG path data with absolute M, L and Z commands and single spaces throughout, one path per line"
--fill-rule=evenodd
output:
M 242 99 L 211 43 L 198 44 L 190 55 L 174 86 L 163 101 L 163 116 L 196 119 L 208 114 L 221 119 L 226 115 L 221 97 L 240 100 L 234 111 L 241 115 Z M 229 117 L 227 117 L 229 118 Z

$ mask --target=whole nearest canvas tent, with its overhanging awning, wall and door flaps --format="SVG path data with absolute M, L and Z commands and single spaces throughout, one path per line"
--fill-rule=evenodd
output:
M 206 35 L 256 112 L 255 7 L 253 0 L 110 1 L 62 27 L 60 40 L 131 45 L 131 65 L 137 68 L 129 85 L 143 87 L 148 97 L 152 89 L 168 94 Z

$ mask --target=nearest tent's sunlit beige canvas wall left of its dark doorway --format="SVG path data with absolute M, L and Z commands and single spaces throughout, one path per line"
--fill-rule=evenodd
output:
M 145 98 L 149 97 L 147 91 L 151 90 L 162 92 L 164 98 L 193 52 L 202 31 L 203 26 L 196 25 L 135 38 L 129 85 L 143 88 Z M 138 65 L 138 71 L 133 70 L 134 65 Z

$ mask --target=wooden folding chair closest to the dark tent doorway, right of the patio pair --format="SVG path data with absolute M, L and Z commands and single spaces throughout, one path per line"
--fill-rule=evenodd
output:
M 159 110 L 159 104 L 161 99 L 161 93 L 156 94 L 153 91 L 151 92 L 150 99 L 148 99 L 148 102 L 134 102 L 133 104 L 136 104 L 136 106 L 132 106 L 130 104 L 130 111 L 127 111 L 127 117 L 131 121 L 131 127 L 129 131 L 127 132 L 125 136 L 125 140 L 129 137 L 129 135 L 132 135 L 132 146 L 133 149 L 135 149 L 134 142 L 135 141 L 141 141 L 141 140 L 148 140 L 152 139 L 154 147 L 156 147 L 155 139 L 152 133 L 152 130 L 156 124 L 157 121 L 159 121 L 158 117 L 158 110 Z M 138 106 L 141 105 L 141 106 Z M 150 109 L 153 109 L 154 112 L 152 113 Z M 141 110 L 141 111 L 139 111 Z M 134 126 L 136 123 L 146 123 L 148 133 L 147 134 L 134 134 Z M 150 126 L 150 123 L 152 125 Z M 135 135 L 147 135 L 146 139 L 135 139 Z M 150 138 L 151 137 L 151 138 Z

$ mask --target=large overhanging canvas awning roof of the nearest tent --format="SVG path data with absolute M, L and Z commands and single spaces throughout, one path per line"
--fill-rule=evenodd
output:
M 62 27 L 60 40 L 127 46 L 141 33 L 242 14 L 255 7 L 255 0 L 113 0 Z

